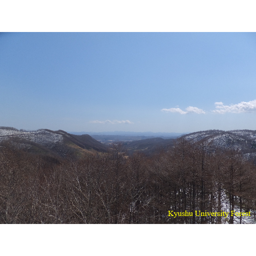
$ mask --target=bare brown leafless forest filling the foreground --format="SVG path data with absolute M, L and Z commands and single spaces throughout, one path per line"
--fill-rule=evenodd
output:
M 64 158 L 0 147 L 2 224 L 244 224 L 256 221 L 256 166 L 234 149 L 177 139 L 152 156 L 122 144 Z M 193 216 L 168 216 L 168 211 Z M 196 216 L 248 212 L 251 216 Z

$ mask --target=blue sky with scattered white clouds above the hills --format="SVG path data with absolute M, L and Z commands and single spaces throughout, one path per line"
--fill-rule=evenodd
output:
M 1 33 L 0 126 L 256 130 L 256 33 Z

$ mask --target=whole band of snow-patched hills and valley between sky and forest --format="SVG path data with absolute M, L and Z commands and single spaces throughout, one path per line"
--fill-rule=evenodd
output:
M 122 132 L 119 132 L 122 133 Z M 152 155 L 159 150 L 168 150 L 174 146 L 176 138 L 184 138 L 190 142 L 204 140 L 212 148 L 234 148 L 248 158 L 256 155 L 256 130 L 206 130 L 189 134 L 166 133 L 162 138 L 156 136 L 136 135 L 111 135 L 111 134 L 71 134 L 63 130 L 53 131 L 49 129 L 18 130 L 13 127 L 0 127 L 0 143 L 11 141 L 14 145 L 28 152 L 40 152 L 51 156 L 83 156 L 94 152 L 107 152 L 112 143 L 120 142 L 127 154 L 136 151 Z M 156 135 L 155 133 L 152 133 Z M 159 133 L 159 135 L 162 133 Z M 182 135 L 182 136 L 180 136 Z M 94 137 L 94 138 L 93 138 Z

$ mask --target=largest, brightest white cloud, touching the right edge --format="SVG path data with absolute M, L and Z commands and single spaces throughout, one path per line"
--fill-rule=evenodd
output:
M 252 112 L 256 110 L 256 100 L 249 102 L 240 102 L 238 104 L 232 104 L 230 106 L 225 106 L 222 102 L 215 102 L 216 110 L 212 110 L 214 113 L 224 114 L 226 112 L 230 113 L 243 113 L 243 112 Z

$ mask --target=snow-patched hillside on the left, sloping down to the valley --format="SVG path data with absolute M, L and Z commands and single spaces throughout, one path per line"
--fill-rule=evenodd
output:
M 83 156 L 92 152 L 106 152 L 107 147 L 88 134 L 74 135 L 63 130 L 36 131 L 18 130 L 13 127 L 0 127 L 0 142 L 10 141 L 16 147 L 28 152 L 38 153 L 41 150 L 48 154 L 66 156 Z

